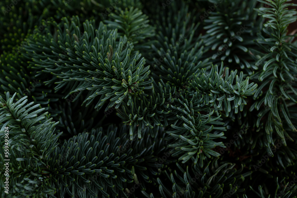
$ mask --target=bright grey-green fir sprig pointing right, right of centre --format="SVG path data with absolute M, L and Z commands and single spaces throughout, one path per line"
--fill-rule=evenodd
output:
M 244 80 L 243 72 L 240 72 L 239 77 L 236 73 L 237 70 L 231 71 L 229 75 L 229 68 L 223 69 L 222 62 L 220 70 L 218 66 L 212 66 L 209 73 L 201 69 L 201 72 L 193 77 L 189 86 L 203 97 L 203 104 L 213 104 L 217 115 L 219 115 L 218 110 L 224 110 L 228 116 L 231 111 L 231 101 L 237 113 L 238 107 L 242 111 L 244 104 L 247 104 L 245 98 L 257 91 L 257 84 L 249 83 L 249 77 Z

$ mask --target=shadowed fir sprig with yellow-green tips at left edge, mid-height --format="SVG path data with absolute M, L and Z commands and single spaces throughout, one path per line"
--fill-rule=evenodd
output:
M 59 94 L 53 96 L 52 89 L 42 86 L 41 79 L 31 75 L 27 69 L 27 60 L 17 52 L 1 54 L 0 96 L 6 99 L 8 92 L 16 93 L 15 101 L 28 96 L 30 102 L 34 101 L 35 104 L 41 104 L 42 107 L 49 110 L 49 103 L 57 101 L 61 96 Z

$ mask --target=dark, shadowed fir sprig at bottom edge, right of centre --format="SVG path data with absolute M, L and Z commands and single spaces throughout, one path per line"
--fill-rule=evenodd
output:
M 242 197 L 244 180 L 251 175 L 251 171 L 244 167 L 235 168 L 236 164 L 219 164 L 218 158 L 208 161 L 203 168 L 197 164 L 185 166 L 174 164 L 174 170 L 165 170 L 158 177 L 158 185 L 154 191 L 142 191 L 148 198 L 221 198 L 230 195 Z M 168 183 L 170 185 L 168 185 Z M 228 183 L 229 185 L 225 185 Z M 149 195 L 150 193 L 150 195 Z

